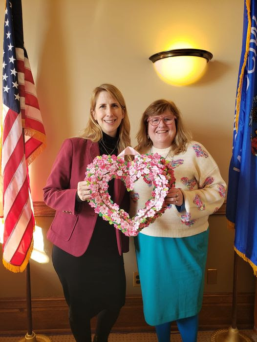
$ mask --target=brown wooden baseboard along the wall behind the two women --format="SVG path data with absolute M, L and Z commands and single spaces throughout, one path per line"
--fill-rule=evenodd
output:
M 216 330 L 231 325 L 232 293 L 205 294 L 199 315 L 199 330 Z M 33 331 L 41 334 L 70 333 L 68 309 L 64 298 L 32 299 Z M 92 320 L 92 330 L 96 320 Z M 175 323 L 173 323 L 175 326 Z M 237 327 L 251 329 L 254 325 L 254 293 L 237 296 Z M 0 335 L 25 335 L 27 332 L 26 300 L 0 299 Z M 148 332 L 141 296 L 127 296 L 113 332 Z

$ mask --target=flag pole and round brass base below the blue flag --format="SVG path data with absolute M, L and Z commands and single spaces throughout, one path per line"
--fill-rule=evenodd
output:
M 211 336 L 211 342 L 251 342 L 236 327 L 237 315 L 237 276 L 238 276 L 238 255 L 234 251 L 234 271 L 233 271 L 233 298 L 232 298 L 232 323 L 228 329 L 218 329 Z

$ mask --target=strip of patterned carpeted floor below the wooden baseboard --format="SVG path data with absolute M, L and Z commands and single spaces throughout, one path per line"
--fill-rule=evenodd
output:
M 257 336 L 253 334 L 252 330 L 240 330 L 245 336 L 251 338 L 251 341 L 257 342 Z M 197 342 L 210 342 L 213 331 L 200 331 L 198 333 Z M 41 335 L 38 335 L 39 337 Z M 51 342 L 75 342 L 72 335 L 43 335 L 42 339 Z M 20 342 L 25 341 L 24 336 L 0 336 L 0 342 Z M 40 340 L 43 341 L 43 340 Z M 181 342 L 178 333 L 171 333 L 171 342 Z M 109 336 L 108 342 L 157 342 L 154 333 L 112 333 Z

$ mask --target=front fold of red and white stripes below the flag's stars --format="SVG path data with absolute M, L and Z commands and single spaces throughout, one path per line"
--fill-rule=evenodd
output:
M 21 113 L 3 105 L 3 262 L 21 271 L 32 246 L 34 218 L 29 198 Z

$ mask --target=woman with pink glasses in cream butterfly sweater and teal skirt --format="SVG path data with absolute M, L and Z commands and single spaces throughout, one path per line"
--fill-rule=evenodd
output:
M 208 217 L 222 205 L 226 184 L 214 159 L 192 141 L 172 101 L 157 100 L 143 113 L 136 149 L 171 161 L 175 184 L 168 208 L 135 238 L 146 322 L 159 342 L 170 342 L 176 321 L 183 342 L 196 342 L 204 287 Z M 135 215 L 151 197 L 152 186 L 139 179 L 131 196 Z

